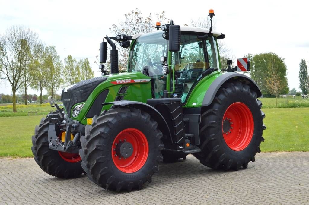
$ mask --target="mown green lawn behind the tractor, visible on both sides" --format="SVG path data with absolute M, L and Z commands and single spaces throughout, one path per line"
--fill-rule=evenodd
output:
M 263 109 L 262 152 L 309 151 L 309 108 Z M 0 156 L 32 157 L 31 136 L 42 116 L 0 118 Z

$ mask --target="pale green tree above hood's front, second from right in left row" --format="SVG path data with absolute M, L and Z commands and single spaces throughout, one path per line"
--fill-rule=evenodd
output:
M 80 68 L 76 59 L 73 59 L 71 55 L 68 55 L 68 57 L 64 59 L 64 65 L 63 74 L 65 82 L 69 85 L 79 82 L 81 78 Z

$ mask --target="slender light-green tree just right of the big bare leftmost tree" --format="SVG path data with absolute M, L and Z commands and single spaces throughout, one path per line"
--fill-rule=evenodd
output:
M 37 49 L 37 55 L 35 56 L 35 61 L 33 62 L 35 69 L 30 72 L 30 75 L 33 76 L 30 86 L 33 89 L 40 90 L 40 104 L 42 104 L 42 91 L 47 86 L 49 79 L 49 72 L 47 69 L 49 59 L 42 44 L 37 44 L 35 49 Z

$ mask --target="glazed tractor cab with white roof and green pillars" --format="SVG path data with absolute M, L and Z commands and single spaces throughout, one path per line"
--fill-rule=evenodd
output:
M 217 38 L 223 34 L 209 32 L 206 28 L 181 27 L 180 49 L 175 52 L 168 50 L 164 31 L 137 34 L 132 37 L 128 72 L 151 78 L 153 98 L 162 98 L 163 90 L 170 89 L 172 97 L 184 102 L 204 71 L 220 69 Z

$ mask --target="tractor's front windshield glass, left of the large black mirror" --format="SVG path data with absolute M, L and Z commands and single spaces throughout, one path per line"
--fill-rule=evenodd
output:
M 149 77 L 162 75 L 161 56 L 167 56 L 167 40 L 163 32 L 143 34 L 138 37 L 130 51 L 129 72 L 142 72 L 146 67 Z

